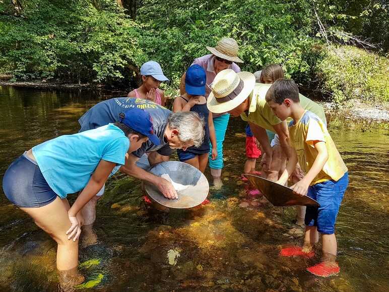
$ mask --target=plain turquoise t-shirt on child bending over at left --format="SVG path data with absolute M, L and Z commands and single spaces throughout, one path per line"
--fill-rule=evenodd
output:
M 83 190 L 100 160 L 124 165 L 129 140 L 108 124 L 94 130 L 63 135 L 32 148 L 50 188 L 61 198 Z

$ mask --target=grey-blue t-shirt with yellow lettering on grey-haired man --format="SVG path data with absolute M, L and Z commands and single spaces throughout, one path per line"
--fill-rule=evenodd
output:
M 169 143 L 164 139 L 164 133 L 167 126 L 167 119 L 172 113 L 167 108 L 147 99 L 133 97 L 115 97 L 101 101 L 92 106 L 81 116 L 78 122 L 81 125 L 79 132 L 96 129 L 109 123 L 120 121 L 119 114 L 128 108 L 138 107 L 149 112 L 153 119 L 153 128 L 155 135 L 158 136 L 161 144 L 154 145 L 150 141 L 143 143 L 141 148 L 133 152 L 137 157 L 141 157 L 146 152 L 157 151 L 161 155 L 168 156 L 172 153 Z

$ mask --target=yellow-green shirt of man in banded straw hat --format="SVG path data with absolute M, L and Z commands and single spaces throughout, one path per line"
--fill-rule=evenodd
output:
M 250 107 L 248 109 L 248 116 L 245 112 L 243 112 L 240 115 L 240 118 L 243 121 L 250 122 L 264 129 L 275 132 L 273 126 L 280 124 L 281 120 L 277 118 L 277 116 L 273 113 L 273 110 L 266 102 L 265 97 L 270 86 L 272 86 L 272 84 L 255 83 L 252 95 L 249 96 Z M 304 109 L 315 113 L 321 119 L 321 121 L 327 125 L 326 115 L 324 113 L 323 107 L 302 94 L 299 94 L 299 97 L 300 105 Z M 288 119 L 287 123 L 290 121 L 291 119 Z

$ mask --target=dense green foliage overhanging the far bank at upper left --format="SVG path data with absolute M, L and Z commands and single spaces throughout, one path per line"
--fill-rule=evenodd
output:
M 21 3 L 21 15 L 1 7 L 0 16 L 0 68 L 16 79 L 115 80 L 147 59 L 139 26 L 114 1 Z

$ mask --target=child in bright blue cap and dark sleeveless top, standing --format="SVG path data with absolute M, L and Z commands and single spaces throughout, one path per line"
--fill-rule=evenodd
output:
M 205 122 L 205 136 L 200 147 L 189 147 L 185 151 L 178 149 L 178 158 L 182 162 L 193 165 L 204 173 L 208 163 L 210 141 L 212 144 L 212 159 L 217 157 L 215 128 L 212 113 L 208 110 L 205 98 L 205 86 L 207 76 L 204 69 L 199 65 L 192 65 L 186 71 L 185 91 L 183 95 L 176 97 L 173 103 L 173 111 L 197 112 Z

